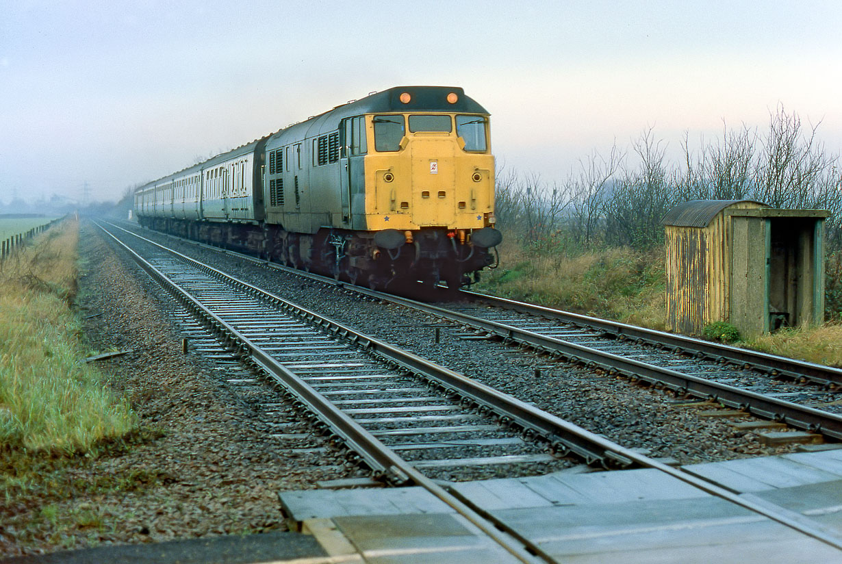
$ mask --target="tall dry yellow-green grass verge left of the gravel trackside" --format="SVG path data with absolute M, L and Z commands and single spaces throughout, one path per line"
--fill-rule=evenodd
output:
M 77 221 L 64 221 L 0 265 L 0 443 L 85 450 L 134 425 L 125 401 L 85 364 L 77 290 Z

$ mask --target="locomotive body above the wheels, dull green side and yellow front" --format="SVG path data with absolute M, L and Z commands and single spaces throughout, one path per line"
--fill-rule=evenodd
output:
M 271 136 L 266 161 L 267 221 L 288 231 L 493 222 L 488 113 L 461 88 L 392 88 L 345 104 Z

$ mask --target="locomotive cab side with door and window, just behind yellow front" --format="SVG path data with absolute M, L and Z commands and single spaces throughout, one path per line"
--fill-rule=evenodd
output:
M 361 228 L 351 225 L 351 222 L 354 210 L 357 213 L 365 210 L 365 117 L 360 115 L 342 120 L 340 130 L 342 154 L 339 157 L 339 195 L 342 200 L 342 223 L 352 228 Z

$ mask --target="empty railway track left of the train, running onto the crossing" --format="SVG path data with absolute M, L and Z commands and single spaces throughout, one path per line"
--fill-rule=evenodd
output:
M 520 561 L 535 561 L 534 555 L 540 551 L 536 547 L 525 547 L 525 539 L 513 539 L 498 531 L 489 520 L 491 518 L 482 516 L 482 508 L 468 507 L 440 483 L 434 482 L 429 471 L 441 467 L 513 467 L 519 464 L 548 464 L 552 470 L 552 464 L 557 463 L 561 455 L 578 457 L 591 464 L 600 462 L 604 466 L 648 467 L 842 548 L 842 540 L 832 533 L 794 519 L 786 510 L 757 503 L 698 476 L 666 466 L 157 243 L 146 240 L 157 250 L 148 260 L 141 258 L 121 242 L 120 237 L 105 228 L 104 231 L 198 319 L 229 343 L 242 362 L 275 380 L 285 393 L 294 396 L 322 425 L 330 428 L 366 466 L 390 482 L 424 487 Z M 144 254 L 147 253 L 148 250 Z M 509 335 L 508 338 L 513 337 Z M 410 412 L 424 415 L 407 416 Z M 387 414 L 392 416 L 386 417 Z M 402 424 L 394 424 L 398 419 L 403 419 Z M 483 433 L 479 439 L 477 432 Z M 493 435 L 484 435 L 486 432 Z M 462 433 L 464 439 L 441 440 L 443 436 L 456 437 L 452 433 Z M 410 436 L 419 440 L 409 442 Z M 527 453 L 530 443 L 539 446 L 538 452 Z M 507 450 L 506 454 L 488 451 L 501 447 Z M 513 447 L 516 452 L 508 451 Z M 465 449 L 478 449 L 478 452 L 470 458 L 444 459 L 407 454 L 454 448 L 459 452 L 465 452 Z M 523 456 L 527 458 L 515 460 Z M 499 460 L 500 457 L 509 457 L 509 460 Z M 480 462 L 480 459 L 484 460 Z

